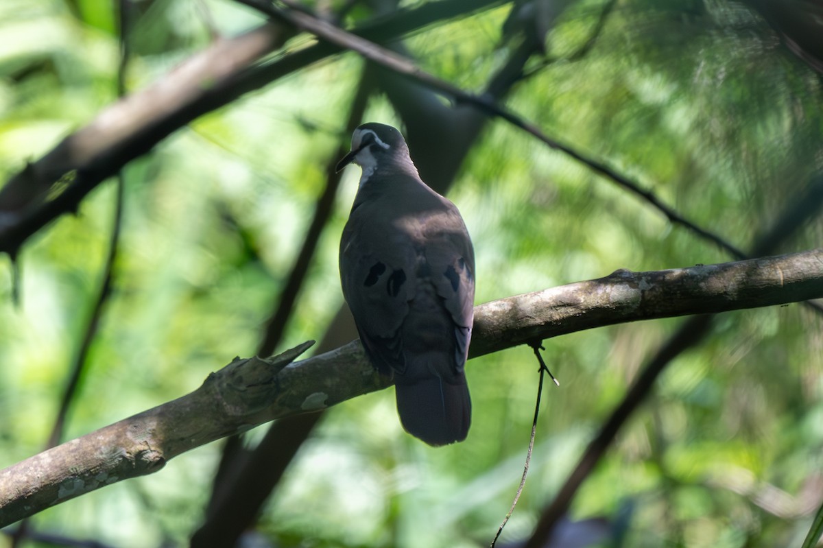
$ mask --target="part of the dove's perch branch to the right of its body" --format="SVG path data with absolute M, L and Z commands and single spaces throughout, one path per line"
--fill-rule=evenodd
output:
M 597 280 L 475 307 L 470 355 L 591 327 L 728 312 L 819 299 L 823 248 L 655 272 L 618 270 Z

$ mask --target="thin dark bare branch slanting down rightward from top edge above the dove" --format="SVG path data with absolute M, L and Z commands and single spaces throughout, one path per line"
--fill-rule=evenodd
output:
M 666 218 L 673 224 L 686 227 L 686 229 L 691 230 L 693 233 L 700 236 L 700 238 L 706 239 L 717 245 L 719 248 L 726 250 L 734 258 L 746 257 L 746 254 L 739 248 L 728 243 L 719 235 L 715 235 L 713 232 L 705 230 L 694 222 L 689 221 L 685 216 L 682 216 L 672 207 L 667 206 L 667 204 L 665 204 L 651 191 L 642 188 L 638 183 L 635 183 L 625 175 L 618 173 L 616 170 L 612 170 L 611 167 L 602 161 L 594 160 L 592 157 L 585 155 L 583 152 L 577 151 L 572 146 L 546 136 L 546 134 L 544 134 L 540 128 L 537 128 L 536 125 L 528 123 L 509 109 L 504 109 L 504 107 L 497 104 L 495 100 L 492 100 L 485 95 L 473 95 L 467 91 L 463 91 L 457 86 L 453 86 L 449 82 L 441 80 L 429 72 L 425 72 L 411 59 L 402 57 L 390 49 L 386 49 L 379 44 L 370 42 L 368 39 L 361 38 L 358 35 L 354 35 L 351 32 L 347 32 L 337 26 L 333 26 L 331 23 L 323 21 L 316 16 L 309 15 L 308 13 L 296 9 L 281 10 L 267 2 L 264 2 L 263 0 L 238 0 L 238 2 L 243 2 L 244 4 L 253 6 L 261 12 L 266 13 L 268 16 L 276 18 L 278 21 L 288 22 L 293 26 L 318 36 L 320 39 L 336 44 L 341 48 L 351 49 L 351 51 L 360 53 L 360 55 L 366 59 L 369 59 L 372 63 L 377 63 L 381 67 L 388 68 L 393 72 L 398 72 L 398 74 L 409 77 L 413 81 L 421 83 L 432 90 L 439 91 L 439 93 L 442 93 L 447 98 L 453 99 L 458 103 L 472 104 L 486 114 L 504 119 L 515 128 L 528 132 L 552 149 L 563 152 L 566 156 L 570 156 L 570 158 L 579 161 L 581 164 L 587 165 L 589 169 L 595 171 L 597 174 L 601 174 L 603 177 L 611 180 L 613 183 L 616 183 L 621 188 L 625 188 L 631 193 L 643 198 L 646 202 L 649 202 L 649 204 L 663 213 L 663 215 L 666 216 Z M 294 2 L 291 2 L 291 0 L 281 0 L 281 2 L 289 6 L 296 5 Z

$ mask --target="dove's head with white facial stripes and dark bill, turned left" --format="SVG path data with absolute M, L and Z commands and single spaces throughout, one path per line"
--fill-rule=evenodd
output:
M 414 168 L 402 134 L 391 126 L 374 122 L 364 123 L 352 133 L 351 151 L 337 162 L 337 171 L 352 162 L 363 169 L 364 179 L 379 165 L 411 165 Z

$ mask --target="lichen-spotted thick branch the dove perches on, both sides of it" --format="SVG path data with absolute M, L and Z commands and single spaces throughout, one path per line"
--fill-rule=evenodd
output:
M 616 323 L 610 314 L 629 322 L 816 298 L 823 298 L 823 248 L 709 267 L 618 271 L 477 306 L 470 356 L 596 327 L 598 314 L 608 324 Z M 365 359 L 359 341 L 292 364 L 311 344 L 269 360 L 235 359 L 187 396 L 0 471 L 0 527 L 158 471 L 170 458 L 215 439 L 391 384 Z

